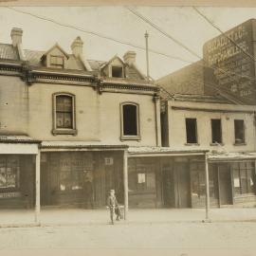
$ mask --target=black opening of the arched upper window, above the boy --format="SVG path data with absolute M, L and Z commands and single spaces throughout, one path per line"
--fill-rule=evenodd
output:
M 123 135 L 137 136 L 137 106 L 126 104 L 122 106 Z

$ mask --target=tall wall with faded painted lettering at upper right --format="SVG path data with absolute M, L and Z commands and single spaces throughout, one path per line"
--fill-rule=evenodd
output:
M 207 94 L 213 92 L 215 86 L 236 100 L 247 104 L 256 103 L 254 62 L 243 52 L 246 51 L 254 58 L 253 26 L 256 27 L 255 21 L 248 20 L 204 45 Z

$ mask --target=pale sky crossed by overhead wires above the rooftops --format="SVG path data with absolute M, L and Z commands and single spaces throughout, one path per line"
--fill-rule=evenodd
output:
M 202 56 L 203 45 L 220 34 L 191 7 L 133 8 L 199 56 Z M 13 7 L 13 9 L 142 47 L 145 47 L 144 33 L 147 30 L 151 49 L 183 60 L 150 52 L 150 76 L 153 79 L 161 78 L 199 60 L 125 7 Z M 122 58 L 126 51 L 134 50 L 137 52 L 137 66 L 146 74 L 146 54 L 143 49 L 121 45 L 91 33 L 63 27 L 13 9 L 0 7 L 0 43 L 10 44 L 11 28 L 21 27 L 24 30 L 23 47 L 25 49 L 47 50 L 58 43 L 66 52 L 71 53 L 70 46 L 73 40 L 81 36 L 84 42 L 84 58 L 108 61 L 115 55 Z M 256 8 L 198 7 L 198 9 L 223 31 L 248 19 L 256 18 Z

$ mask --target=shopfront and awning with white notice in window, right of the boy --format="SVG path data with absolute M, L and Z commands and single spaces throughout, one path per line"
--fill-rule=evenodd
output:
M 177 154 L 168 152 L 167 148 L 145 148 L 140 152 L 129 149 L 129 153 L 130 208 L 191 208 L 204 205 L 205 152 Z

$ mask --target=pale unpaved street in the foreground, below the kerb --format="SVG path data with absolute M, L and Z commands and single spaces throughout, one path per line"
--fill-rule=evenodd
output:
M 2 228 L 0 255 L 255 255 L 255 222 Z M 7 253 L 8 252 L 8 253 Z

